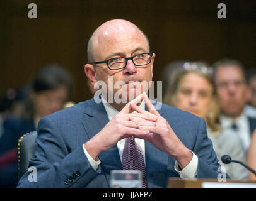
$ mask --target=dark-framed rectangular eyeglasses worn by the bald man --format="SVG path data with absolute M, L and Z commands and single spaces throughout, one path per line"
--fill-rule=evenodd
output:
M 129 59 L 132 60 L 132 63 L 136 66 L 147 65 L 151 62 L 153 53 L 141 53 L 134 55 L 133 57 L 115 57 L 105 60 L 103 62 L 93 62 L 93 64 L 106 63 L 110 70 L 119 70 L 125 68 Z

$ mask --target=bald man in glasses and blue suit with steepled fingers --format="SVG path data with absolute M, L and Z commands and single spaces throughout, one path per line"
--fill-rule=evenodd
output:
M 166 188 L 169 177 L 217 178 L 220 165 L 204 120 L 165 104 L 156 109 L 149 100 L 155 57 L 131 22 L 98 27 L 84 72 L 100 90 L 41 119 L 29 163 L 37 182 L 28 182 L 26 172 L 18 187 L 109 188 L 111 170 L 140 170 L 143 188 Z

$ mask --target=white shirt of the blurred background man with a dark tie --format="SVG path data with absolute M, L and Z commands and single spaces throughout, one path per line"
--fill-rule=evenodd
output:
M 248 117 L 245 116 L 244 113 L 242 113 L 239 117 L 237 117 L 236 119 L 233 119 L 231 117 L 221 114 L 220 121 L 221 121 L 221 127 L 223 129 L 231 128 L 232 124 L 236 124 L 238 126 L 238 129 L 235 133 L 238 134 L 238 136 L 240 137 L 241 143 L 243 145 L 243 150 L 246 153 L 250 146 L 250 139 L 251 139 L 250 122 L 248 120 Z

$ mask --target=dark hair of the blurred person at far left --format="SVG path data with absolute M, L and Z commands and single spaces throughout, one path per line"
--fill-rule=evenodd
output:
M 41 68 L 28 84 L 30 93 L 39 94 L 47 90 L 55 90 L 66 87 L 67 97 L 70 95 L 72 80 L 71 75 L 59 65 L 47 65 Z M 22 117 L 31 119 L 34 116 L 33 102 L 29 95 L 25 100 L 25 111 Z

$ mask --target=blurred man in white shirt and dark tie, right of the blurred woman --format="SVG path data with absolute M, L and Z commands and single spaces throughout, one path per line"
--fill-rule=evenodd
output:
M 214 63 L 214 68 L 214 80 L 221 107 L 221 127 L 233 129 L 247 153 L 252 133 L 256 128 L 256 119 L 248 117 L 244 112 L 250 98 L 244 67 L 236 60 L 224 59 Z

